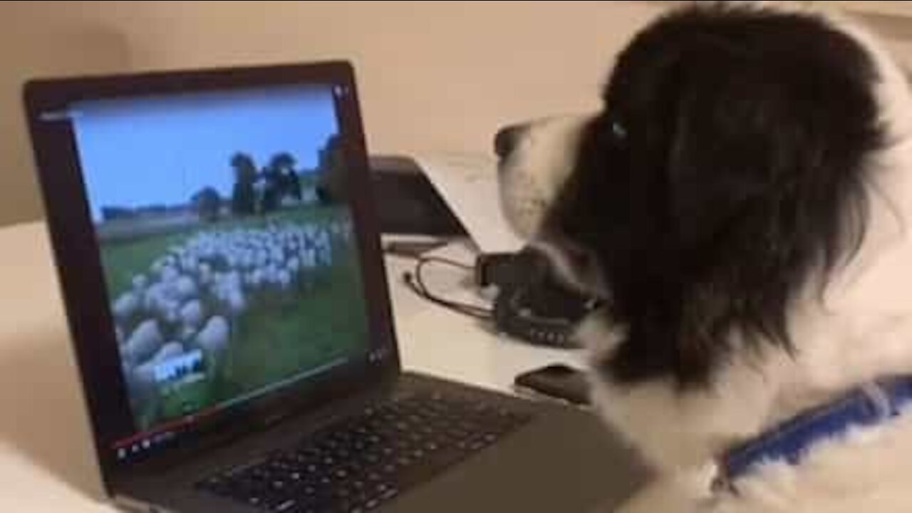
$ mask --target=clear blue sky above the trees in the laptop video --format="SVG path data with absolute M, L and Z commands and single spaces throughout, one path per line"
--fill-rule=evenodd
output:
M 103 206 L 185 204 L 212 186 L 230 196 L 234 152 L 263 167 L 277 152 L 298 169 L 337 133 L 329 88 L 258 89 L 74 105 L 92 217 Z

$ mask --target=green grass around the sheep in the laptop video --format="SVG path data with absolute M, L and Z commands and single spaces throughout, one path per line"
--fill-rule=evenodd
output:
M 316 223 L 344 219 L 335 208 L 308 208 L 264 218 L 198 225 L 179 234 L 149 236 L 133 241 L 102 243 L 102 261 L 111 298 L 130 288 L 133 276 L 147 273 L 152 262 L 171 246 L 201 231 L 260 227 L 268 223 Z M 229 347 L 212 362 L 204 382 L 134 403 L 140 429 L 250 393 L 270 383 L 316 368 L 366 349 L 368 321 L 353 244 L 333 241 L 333 264 L 319 267 L 306 287 L 293 295 L 262 293 L 235 319 Z

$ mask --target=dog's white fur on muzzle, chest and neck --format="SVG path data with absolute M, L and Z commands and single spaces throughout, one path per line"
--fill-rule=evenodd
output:
M 867 162 L 871 216 L 858 255 L 809 284 L 791 312 L 797 351 L 742 351 L 711 390 L 676 392 L 671 382 L 619 388 L 593 376 L 597 410 L 663 477 L 630 511 L 912 511 L 912 412 L 896 421 L 815 445 L 799 466 L 771 465 L 713 494 L 713 459 L 731 443 L 877 377 L 912 373 L 912 94 L 903 71 L 860 26 L 828 15 L 858 41 L 882 80 L 876 99 L 889 146 Z M 572 169 L 587 116 L 532 123 L 502 166 L 504 210 L 534 241 L 537 225 Z M 545 246 L 558 269 L 572 273 Z M 596 317 L 578 335 L 594 356 L 619 340 Z

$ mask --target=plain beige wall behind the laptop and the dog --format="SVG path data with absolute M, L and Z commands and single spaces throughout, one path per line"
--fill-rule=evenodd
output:
M 17 134 L 0 141 L 0 224 L 40 215 L 17 92 L 36 71 L 347 58 L 371 152 L 488 151 L 505 122 L 594 108 L 612 57 L 663 4 L 5 2 L 0 127 Z

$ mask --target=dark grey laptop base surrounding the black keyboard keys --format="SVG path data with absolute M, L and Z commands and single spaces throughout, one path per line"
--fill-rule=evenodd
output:
M 617 505 L 648 479 L 648 470 L 593 414 L 553 403 L 530 402 L 420 374 L 404 373 L 382 393 L 366 393 L 344 411 L 359 412 L 365 404 L 401 394 L 435 393 L 459 397 L 531 420 L 449 466 L 439 475 L 404 490 L 398 497 L 371 504 L 381 512 L 456 513 L 464 511 L 590 511 Z M 334 407 L 334 409 L 337 407 Z M 344 418 L 347 414 L 343 414 Z M 298 446 L 313 426 L 338 421 L 311 415 L 292 419 L 273 430 L 245 436 L 243 442 L 200 455 L 172 471 L 130 483 L 119 503 L 144 511 L 254 513 L 269 508 L 218 497 L 194 484 L 224 468 L 258 461 L 262 455 Z M 156 472 L 161 472 L 161 469 Z M 130 497 L 130 498 L 125 498 Z M 275 505 L 278 507 L 279 505 Z M 352 511 L 368 510 L 359 505 Z M 289 509 L 294 511 L 294 509 Z M 303 510 L 303 509 L 302 509 Z

